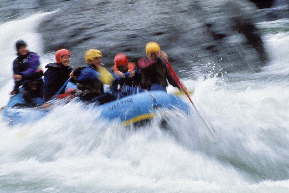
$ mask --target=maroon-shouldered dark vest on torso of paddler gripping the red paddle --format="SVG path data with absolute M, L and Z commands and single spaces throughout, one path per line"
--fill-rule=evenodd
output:
M 152 84 L 160 84 L 164 87 L 168 85 L 166 81 L 167 69 L 166 63 L 162 59 L 152 61 L 149 59 L 141 58 L 138 61 L 140 68 L 140 85 L 143 88 L 148 88 Z

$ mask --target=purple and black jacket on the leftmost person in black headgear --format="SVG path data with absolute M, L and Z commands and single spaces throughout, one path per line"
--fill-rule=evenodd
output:
M 41 80 L 43 76 L 42 68 L 39 62 L 39 56 L 34 52 L 28 52 L 26 55 L 20 55 L 13 61 L 13 73 L 22 76 L 21 80 L 15 80 L 13 90 L 18 91 L 20 85 L 29 82 Z

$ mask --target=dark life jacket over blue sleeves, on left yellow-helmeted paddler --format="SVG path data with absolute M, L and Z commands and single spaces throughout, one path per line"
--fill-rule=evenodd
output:
M 76 92 L 82 93 L 82 95 L 86 96 L 98 96 L 100 94 L 103 94 L 103 83 L 99 80 L 94 80 L 94 81 L 79 81 L 78 76 L 83 68 L 92 68 L 93 70 L 96 70 L 93 68 L 91 65 L 86 66 L 86 65 L 81 65 L 78 66 L 74 71 L 73 71 L 73 76 L 76 78 L 76 85 L 77 85 L 77 90 Z

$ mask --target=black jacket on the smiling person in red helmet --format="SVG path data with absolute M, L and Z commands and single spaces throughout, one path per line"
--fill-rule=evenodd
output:
M 64 66 L 61 63 L 50 63 L 45 66 L 47 70 L 44 73 L 44 98 L 47 102 L 62 87 L 69 78 L 72 71 L 70 66 Z M 63 94 L 64 90 L 60 92 Z

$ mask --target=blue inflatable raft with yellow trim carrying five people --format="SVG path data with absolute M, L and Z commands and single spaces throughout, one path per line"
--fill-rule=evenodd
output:
M 66 89 L 71 87 L 69 83 Z M 36 103 L 41 104 L 42 99 L 36 98 Z M 156 114 L 170 114 L 180 111 L 188 114 L 189 107 L 179 97 L 167 94 L 165 91 L 144 91 L 138 94 L 129 95 L 95 106 L 95 110 L 101 110 L 101 118 L 114 120 L 118 119 L 123 125 L 137 123 L 142 120 L 153 118 Z M 49 110 L 40 106 L 28 107 L 21 93 L 11 97 L 9 103 L 3 110 L 3 119 L 10 124 L 34 122 L 49 113 Z

